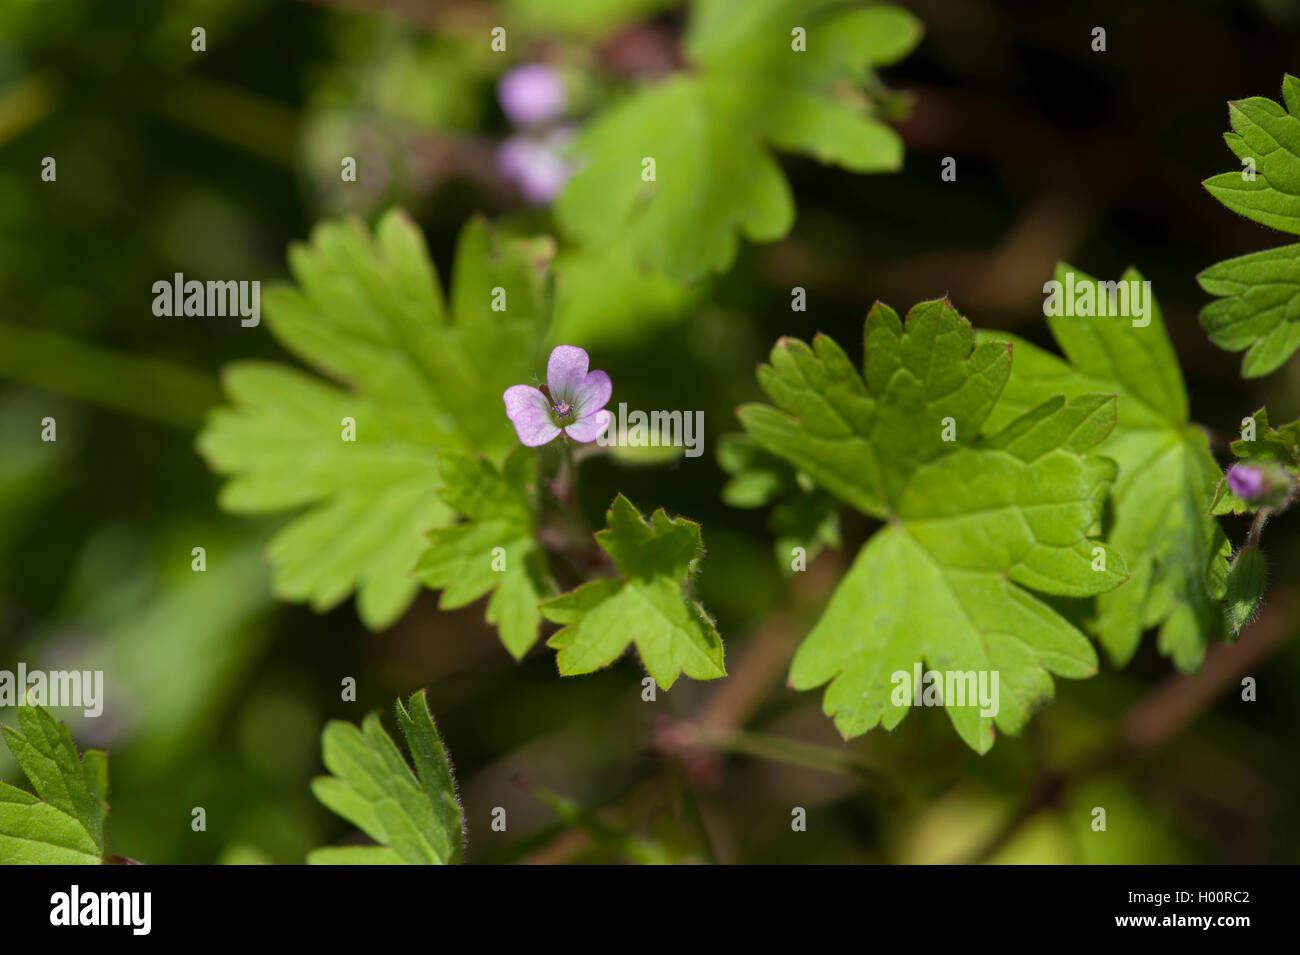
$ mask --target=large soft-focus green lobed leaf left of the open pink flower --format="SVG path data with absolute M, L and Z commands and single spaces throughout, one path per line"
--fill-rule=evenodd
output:
M 277 596 L 325 611 L 355 590 L 372 629 L 407 608 L 422 535 L 454 520 L 437 496 L 438 451 L 500 460 L 515 444 L 500 395 L 529 381 L 542 357 L 549 251 L 547 242 L 498 240 L 472 220 L 447 301 L 400 212 L 373 236 L 355 221 L 325 223 L 290 251 L 298 287 L 266 291 L 270 330 L 347 387 L 238 363 L 224 376 L 233 407 L 199 435 L 208 464 L 230 478 L 222 508 L 306 508 L 266 551 Z M 493 311 L 494 290 L 504 311 Z M 344 439 L 350 425 L 355 440 Z

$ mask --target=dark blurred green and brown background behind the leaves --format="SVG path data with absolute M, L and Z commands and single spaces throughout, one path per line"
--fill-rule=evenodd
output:
M 317 220 L 390 204 L 412 212 L 443 277 L 476 210 L 554 231 L 484 161 L 506 133 L 488 26 L 524 22 L 511 64 L 563 58 L 592 78 L 597 108 L 645 60 L 671 58 L 682 12 L 644 3 L 645 17 L 606 25 L 477 0 L 0 0 L 0 667 L 108 670 L 118 695 L 104 719 L 60 716 L 78 743 L 110 751 L 114 852 L 294 863 L 350 838 L 308 789 L 322 724 L 426 686 L 473 861 L 625 855 L 560 826 L 516 776 L 682 860 L 1300 860 L 1295 515 L 1266 534 L 1261 618 L 1199 677 L 1174 677 L 1148 639 L 1123 672 L 1057 681 L 1057 702 L 984 758 L 937 712 L 845 745 L 820 693 L 784 689 L 870 529 L 846 516 L 845 550 L 792 579 L 763 516 L 720 500 L 712 443 L 757 396 L 753 369 L 776 337 L 820 330 L 852 353 L 875 299 L 902 309 L 946 294 L 978 326 L 1050 347 L 1054 262 L 1102 278 L 1131 264 L 1153 282 L 1193 418 L 1231 434 L 1264 403 L 1274 421 L 1300 414 L 1300 364 L 1244 382 L 1239 356 L 1197 325 L 1208 296 L 1195 281 L 1287 240 L 1200 182 L 1238 168 L 1226 101 L 1278 99 L 1300 66 L 1300 3 L 902 5 L 926 23 L 884 71 L 913 97 L 905 169 L 783 156 L 798 204 L 788 239 L 745 246 L 689 301 L 588 343 L 615 400 L 706 412 L 705 457 L 667 473 L 595 461 L 584 476 L 593 520 L 623 490 L 703 525 L 699 594 L 732 676 L 682 680 L 650 704 L 634 657 L 566 680 L 545 647 L 514 663 L 481 605 L 443 613 L 425 592 L 373 634 L 351 602 L 325 615 L 274 602 L 260 548 L 280 521 L 221 515 L 194 437 L 221 401 L 224 363 L 286 356 L 265 325 L 156 318 L 150 287 L 173 272 L 281 278 L 286 246 Z M 341 188 L 338 155 L 363 157 L 363 190 Z M 57 183 L 39 179 L 44 156 Z M 945 156 L 956 182 L 940 181 Z M 789 309 L 796 285 L 806 313 Z M 47 414 L 56 446 L 38 440 Z M 200 539 L 209 572 L 192 574 Z M 358 703 L 339 699 L 347 676 Z M 1258 702 L 1240 702 L 1243 676 Z M 731 732 L 725 751 L 684 750 L 675 730 L 701 725 Z M 6 752 L 0 776 L 17 781 Z M 205 833 L 190 829 L 196 806 Z M 796 806 L 806 833 L 790 832 Z M 1087 829 L 1093 806 L 1108 808 L 1105 834 Z M 494 807 L 506 833 L 490 830 Z

